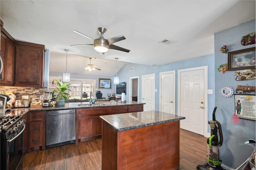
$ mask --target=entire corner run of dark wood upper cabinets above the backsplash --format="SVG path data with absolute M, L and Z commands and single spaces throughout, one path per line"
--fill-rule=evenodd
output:
M 44 87 L 44 45 L 15 41 L 1 24 L 1 86 Z

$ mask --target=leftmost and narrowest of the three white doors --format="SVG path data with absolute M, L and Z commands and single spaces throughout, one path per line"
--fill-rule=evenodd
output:
M 155 109 L 155 74 L 142 76 L 142 103 L 144 111 Z

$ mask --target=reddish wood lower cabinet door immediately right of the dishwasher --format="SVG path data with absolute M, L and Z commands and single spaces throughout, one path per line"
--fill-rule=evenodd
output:
M 94 136 L 94 116 L 78 117 L 78 139 Z

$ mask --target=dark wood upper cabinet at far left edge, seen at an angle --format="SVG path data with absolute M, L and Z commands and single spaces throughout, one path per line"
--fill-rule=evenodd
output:
M 1 86 L 12 86 L 14 84 L 14 52 L 15 41 L 3 28 L 1 28 L 1 57 L 3 70 L 0 75 Z

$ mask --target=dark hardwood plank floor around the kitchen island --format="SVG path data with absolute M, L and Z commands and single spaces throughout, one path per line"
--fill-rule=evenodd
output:
M 196 169 L 207 158 L 206 137 L 180 129 L 180 168 Z M 23 158 L 23 170 L 101 170 L 102 140 L 34 151 Z M 139 168 L 138 168 L 139 170 Z

